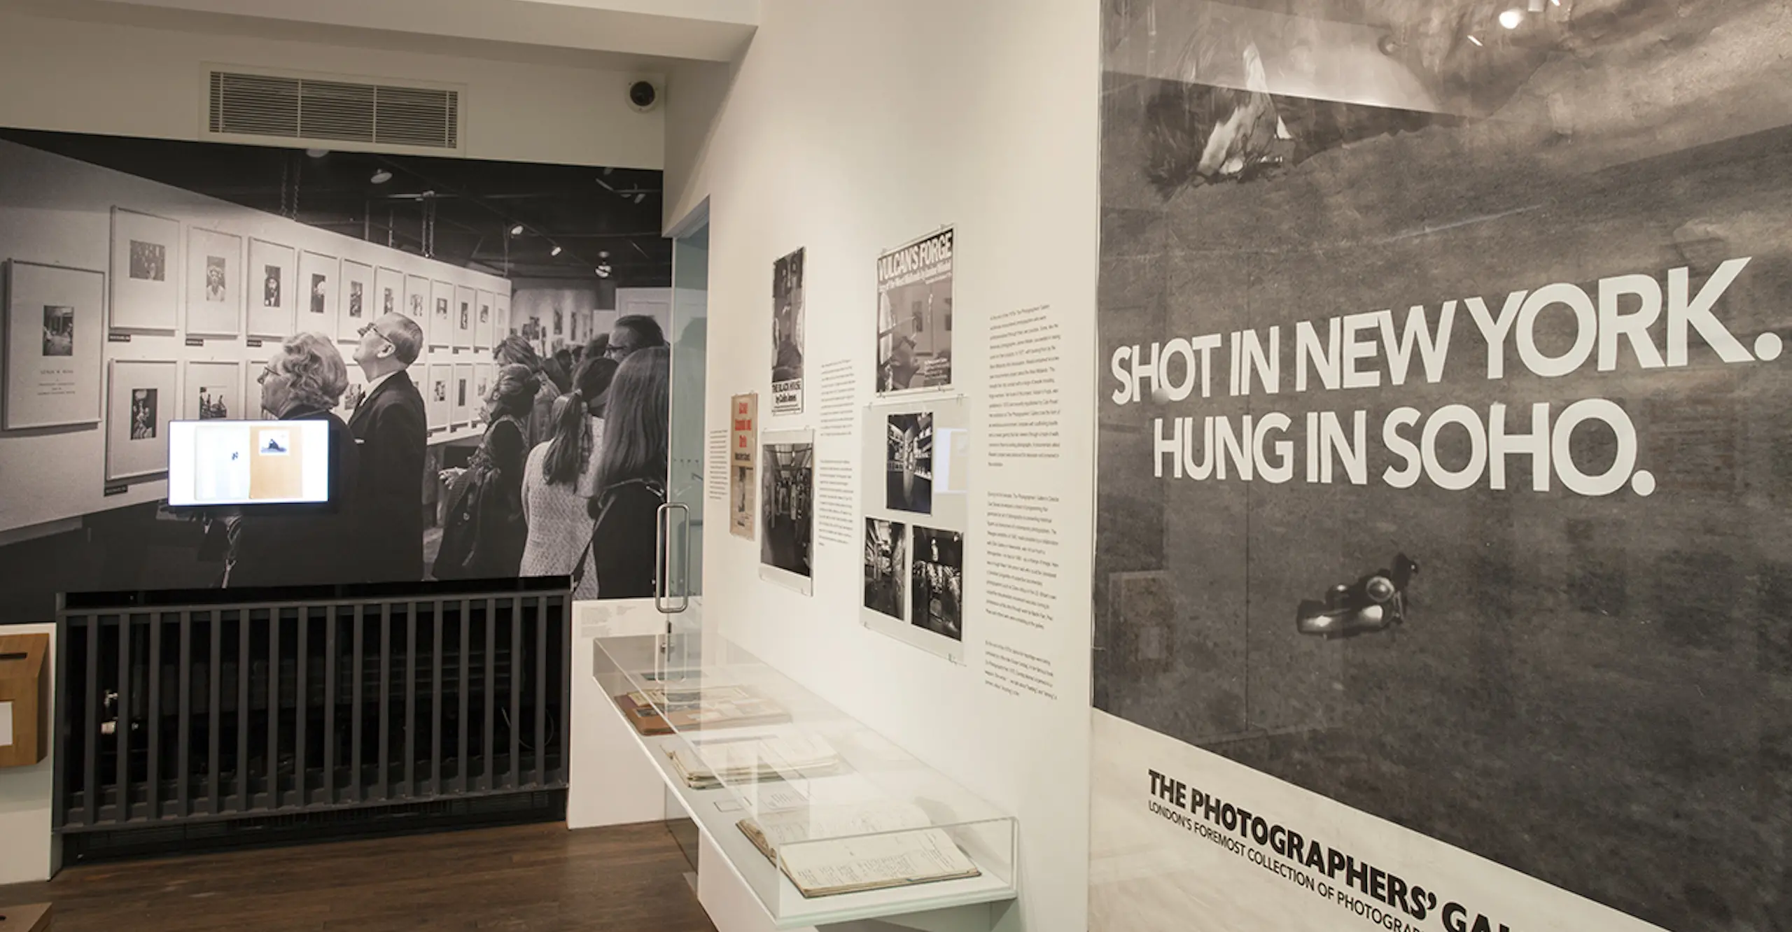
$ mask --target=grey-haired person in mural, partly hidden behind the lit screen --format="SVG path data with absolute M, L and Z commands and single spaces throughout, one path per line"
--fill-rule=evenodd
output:
M 280 344 L 256 378 L 262 407 L 281 421 L 330 421 L 330 505 L 326 509 L 260 507 L 222 518 L 228 536 L 222 584 L 308 586 L 358 579 L 366 570 L 357 536 L 358 450 L 348 425 L 332 410 L 348 389 L 348 366 L 330 337 L 299 333 Z M 217 525 L 215 525 L 217 527 Z

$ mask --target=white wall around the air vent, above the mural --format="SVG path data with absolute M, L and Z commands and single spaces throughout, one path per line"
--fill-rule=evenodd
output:
M 77 0 L 70 5 L 86 9 Z M 0 88 L 11 90 L 0 95 L 0 125 L 197 140 L 202 66 L 244 65 L 461 84 L 468 158 L 661 165 L 663 113 L 634 113 L 624 95 L 640 72 L 568 65 L 572 56 L 559 50 L 541 50 L 536 61 L 507 61 L 380 48 L 373 41 L 332 45 L 233 34 L 195 29 L 210 20 L 194 14 L 161 16 L 174 25 L 65 20 L 0 7 Z

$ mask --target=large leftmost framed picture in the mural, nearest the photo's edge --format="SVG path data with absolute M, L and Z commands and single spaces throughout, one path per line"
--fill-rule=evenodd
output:
M 7 263 L 4 427 L 100 419 L 106 272 Z

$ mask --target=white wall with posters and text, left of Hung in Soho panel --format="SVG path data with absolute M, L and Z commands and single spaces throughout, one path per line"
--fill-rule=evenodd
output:
M 688 165 L 668 179 L 668 219 L 706 197 L 711 210 L 711 428 L 726 423 L 729 394 L 745 391 L 762 396 L 762 432 L 819 421 L 814 387 L 801 416 L 769 416 L 767 403 L 772 262 L 799 246 L 808 373 L 849 358 L 862 403 L 874 367 L 874 258 L 941 224 L 957 224 L 955 382 L 973 423 L 984 416 L 993 315 L 1052 305 L 1066 358 L 1093 346 L 1097 14 L 1090 0 L 769 2 L 731 86 L 713 72 L 686 75 L 719 104 L 713 125 L 701 106 L 674 106 L 668 125 L 668 165 Z M 1059 617 L 1043 633 L 984 611 L 993 470 L 982 459 L 971 479 L 966 667 L 860 627 L 857 545 L 817 548 L 814 597 L 762 582 L 751 541 L 711 534 L 704 550 L 704 602 L 737 640 L 1020 817 L 1021 902 L 1002 925 L 1011 930 L 1086 925 L 1090 358 L 1061 373 L 1068 446 L 1045 482 L 1072 545 L 1054 593 Z M 860 459 L 857 439 L 821 443 Z M 726 504 L 708 507 L 706 522 L 724 525 Z M 986 686 L 991 638 L 1047 656 L 1055 699 Z

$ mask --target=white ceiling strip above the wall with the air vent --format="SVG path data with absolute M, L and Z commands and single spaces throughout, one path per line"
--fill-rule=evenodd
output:
M 760 0 L 0 0 L 43 16 L 100 18 L 292 39 L 378 45 L 418 39 L 516 47 L 552 59 L 652 66 L 665 59 L 731 61 L 758 27 Z M 407 41 L 409 38 L 409 41 Z M 446 50 L 446 48 L 444 48 Z

